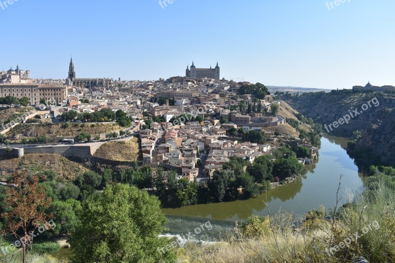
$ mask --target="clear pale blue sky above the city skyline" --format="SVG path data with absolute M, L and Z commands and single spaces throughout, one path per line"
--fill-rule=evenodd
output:
M 218 61 L 221 77 L 265 85 L 335 89 L 369 80 L 395 85 L 395 1 L 337 3 L 2 3 L 0 70 L 18 63 L 35 78 L 66 78 L 72 55 L 78 78 L 156 80 L 184 76 L 192 61 L 197 68 Z

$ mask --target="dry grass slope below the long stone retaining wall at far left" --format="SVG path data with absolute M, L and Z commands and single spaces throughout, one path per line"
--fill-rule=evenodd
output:
M 28 154 L 19 159 L 0 160 L 0 175 L 2 179 L 16 170 L 23 169 L 28 169 L 33 174 L 51 169 L 68 181 L 75 180 L 78 174 L 87 171 L 81 164 L 57 154 Z

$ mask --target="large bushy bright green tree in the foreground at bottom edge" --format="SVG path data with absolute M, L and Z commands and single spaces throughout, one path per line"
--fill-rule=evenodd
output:
M 166 222 L 160 203 L 127 185 L 108 186 L 82 203 L 80 224 L 70 238 L 72 262 L 175 262 L 167 238 L 158 238 Z

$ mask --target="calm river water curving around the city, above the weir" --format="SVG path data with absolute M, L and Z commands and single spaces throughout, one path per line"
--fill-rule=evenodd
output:
M 324 135 L 321 138 L 319 158 L 306 165 L 307 174 L 294 182 L 269 190 L 256 198 L 234 202 L 186 206 L 176 209 L 163 209 L 165 215 L 200 217 L 224 221 L 245 221 L 249 216 L 267 215 L 264 201 L 270 212 L 285 210 L 296 215 L 305 215 L 311 209 L 324 205 L 327 212 L 336 203 L 336 190 L 340 175 L 343 174 L 340 197 L 347 190 L 363 187 L 362 175 L 346 150 L 346 138 Z M 347 200 L 342 199 L 343 203 Z

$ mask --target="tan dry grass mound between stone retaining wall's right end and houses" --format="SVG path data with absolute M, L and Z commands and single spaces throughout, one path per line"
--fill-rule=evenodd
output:
M 138 158 L 139 144 L 137 138 L 127 142 L 110 142 L 103 144 L 93 155 L 112 161 L 132 162 Z

